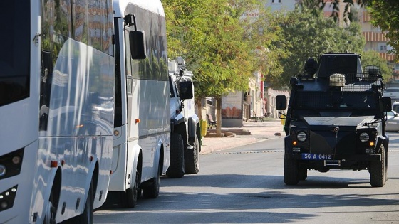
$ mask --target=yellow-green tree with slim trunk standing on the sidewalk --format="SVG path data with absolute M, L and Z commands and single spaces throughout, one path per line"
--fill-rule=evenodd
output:
M 217 107 L 217 136 L 221 135 L 222 96 L 230 92 L 247 90 L 252 64 L 249 45 L 243 41 L 243 27 L 237 9 L 225 0 L 210 1 L 203 29 L 202 58 L 195 71 L 195 87 L 200 97 L 213 96 Z M 192 46 L 195 48 L 195 46 Z M 202 95 L 201 95 L 202 94 Z

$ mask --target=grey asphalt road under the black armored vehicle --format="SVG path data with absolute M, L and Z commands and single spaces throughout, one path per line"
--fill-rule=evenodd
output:
M 157 199 L 133 209 L 105 207 L 94 223 L 399 223 L 399 134 L 390 134 L 388 181 L 372 188 L 368 171 L 308 171 L 283 182 L 283 139 L 200 157 L 197 175 L 161 178 Z

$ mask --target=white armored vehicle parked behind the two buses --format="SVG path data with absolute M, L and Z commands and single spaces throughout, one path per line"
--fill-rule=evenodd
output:
M 199 171 L 201 129 L 195 114 L 192 73 L 181 57 L 169 60 L 170 84 L 170 166 L 166 175 L 181 178 Z

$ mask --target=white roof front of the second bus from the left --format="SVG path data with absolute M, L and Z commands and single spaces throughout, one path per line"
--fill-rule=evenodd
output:
M 160 0 L 113 0 L 114 17 L 122 18 L 125 16 L 125 9 L 129 4 L 137 5 L 142 9 L 147 9 L 155 14 L 165 16 Z

